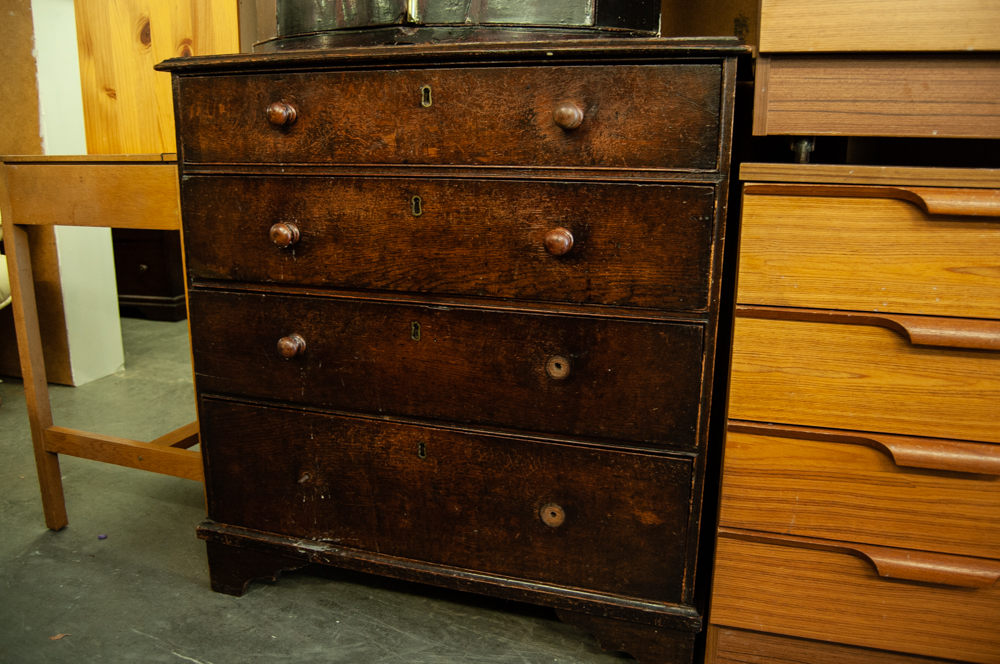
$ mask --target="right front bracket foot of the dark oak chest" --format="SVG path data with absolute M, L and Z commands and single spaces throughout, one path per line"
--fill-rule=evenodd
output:
M 694 632 L 558 609 L 556 615 L 564 623 L 589 632 L 602 650 L 628 653 L 640 664 L 690 664 L 694 657 Z

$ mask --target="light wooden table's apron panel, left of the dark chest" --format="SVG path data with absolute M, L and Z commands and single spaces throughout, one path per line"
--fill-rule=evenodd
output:
M 18 224 L 180 228 L 171 164 L 8 164 L 6 171 Z

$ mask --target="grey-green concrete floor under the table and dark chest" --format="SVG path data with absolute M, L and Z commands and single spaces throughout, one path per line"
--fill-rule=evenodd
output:
M 56 424 L 152 440 L 194 420 L 186 323 L 123 319 L 122 333 L 123 372 L 52 386 Z M 194 531 L 202 485 L 189 480 L 61 457 L 70 525 L 46 530 L 24 389 L 3 381 L 4 664 L 634 661 L 548 609 L 330 568 L 213 593 Z

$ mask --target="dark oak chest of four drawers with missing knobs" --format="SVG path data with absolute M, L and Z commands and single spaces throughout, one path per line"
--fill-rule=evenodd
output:
M 691 661 L 739 53 L 162 66 L 213 588 L 318 562 Z

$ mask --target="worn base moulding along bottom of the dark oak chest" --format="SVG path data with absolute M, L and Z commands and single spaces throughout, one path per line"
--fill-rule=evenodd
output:
M 306 559 L 312 563 L 342 567 L 426 583 L 453 590 L 474 592 L 551 606 L 556 609 L 594 613 L 619 620 L 665 627 L 682 632 L 701 630 L 702 617 L 692 607 L 647 602 L 575 588 L 551 586 L 510 577 L 424 563 L 416 560 L 334 546 L 249 528 L 206 520 L 198 526 L 198 537 L 210 542 L 246 547 L 264 553 Z

